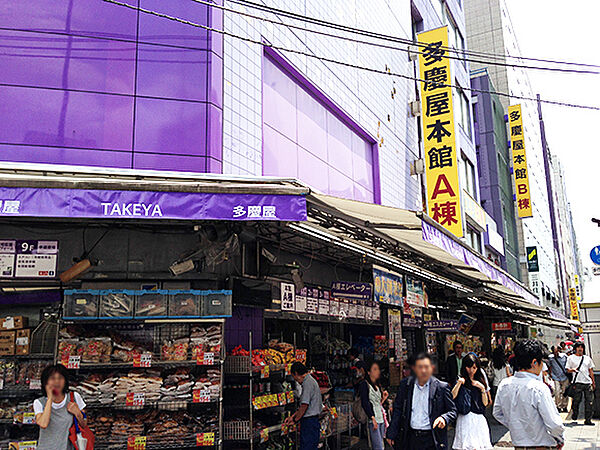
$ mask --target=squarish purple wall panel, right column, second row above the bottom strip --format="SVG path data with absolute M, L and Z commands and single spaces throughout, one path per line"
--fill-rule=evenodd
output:
M 137 94 L 206 100 L 208 52 L 140 44 Z

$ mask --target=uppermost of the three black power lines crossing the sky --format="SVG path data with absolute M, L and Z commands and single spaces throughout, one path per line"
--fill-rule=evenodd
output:
M 328 22 L 323 19 L 317 19 L 315 17 L 304 16 L 302 14 L 294 13 L 291 11 L 286 11 L 286 10 L 279 9 L 279 8 L 274 8 L 271 6 L 261 5 L 259 3 L 250 2 L 248 0 L 229 0 L 229 1 L 231 1 L 233 3 L 237 3 L 239 5 L 247 6 L 249 8 L 259 9 L 262 11 L 271 12 L 273 14 L 284 15 L 284 16 L 287 16 L 287 17 L 290 17 L 290 18 L 293 18 L 296 20 L 300 20 L 300 21 L 304 21 L 304 22 L 311 22 L 313 24 L 321 25 L 324 27 L 336 28 L 336 29 L 344 30 L 344 31 L 347 31 L 350 33 L 362 34 L 362 35 L 366 35 L 366 36 L 370 36 L 370 37 L 375 37 L 377 39 L 383 39 L 386 41 L 401 42 L 404 44 L 416 45 L 416 46 L 424 46 L 424 44 L 421 44 L 419 42 L 414 42 L 410 39 L 376 33 L 373 31 L 364 30 L 364 29 L 360 29 L 360 28 L 354 28 L 354 27 L 350 27 L 348 25 L 342 25 L 342 24 L 338 24 L 335 22 Z M 495 58 L 495 59 L 514 58 L 514 59 L 523 60 L 523 61 L 545 62 L 545 63 L 550 63 L 550 64 L 561 64 L 561 65 L 568 65 L 568 66 L 591 67 L 591 68 L 600 69 L 600 65 L 596 65 L 596 64 L 577 63 L 577 62 L 571 62 L 571 61 L 558 61 L 558 60 L 552 60 L 552 59 L 531 58 L 531 57 L 515 56 L 515 55 L 499 55 L 499 54 L 495 54 L 495 53 L 487 53 L 487 52 L 481 52 L 481 51 L 475 51 L 475 50 L 458 50 L 457 51 L 456 49 L 454 49 L 452 47 L 442 47 L 442 48 L 444 48 L 445 50 L 449 50 L 449 51 L 455 51 L 455 52 L 460 52 L 460 53 L 464 53 L 464 54 L 471 54 L 471 55 L 480 56 L 480 57 L 483 56 L 486 58 Z

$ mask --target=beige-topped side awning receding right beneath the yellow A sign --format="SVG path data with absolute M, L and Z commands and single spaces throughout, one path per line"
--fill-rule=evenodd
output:
M 308 197 L 309 220 L 330 228 L 348 224 L 373 234 L 375 241 L 387 240 L 399 255 L 419 255 L 434 266 L 444 268 L 446 277 L 454 274 L 485 288 L 483 295 L 506 306 L 548 315 L 535 294 L 523 284 L 488 262 L 451 236 L 426 216 L 388 206 L 373 205 L 337 197 L 311 194 Z M 329 221 L 329 223 L 328 223 Z M 360 233 L 356 233 L 357 237 Z

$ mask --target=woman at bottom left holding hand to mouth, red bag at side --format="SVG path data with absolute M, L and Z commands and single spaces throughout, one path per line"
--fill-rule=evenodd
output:
M 49 366 L 42 372 L 42 397 L 33 402 L 35 423 L 40 427 L 37 450 L 85 450 L 75 447 L 77 437 L 71 428 L 87 427 L 85 402 L 78 393 L 69 392 L 69 373 L 63 365 Z M 73 442 L 74 441 L 74 442 Z

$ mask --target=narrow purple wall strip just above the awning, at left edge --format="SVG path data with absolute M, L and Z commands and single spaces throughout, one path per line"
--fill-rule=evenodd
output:
M 0 144 L 0 161 L 129 168 L 131 152 Z

